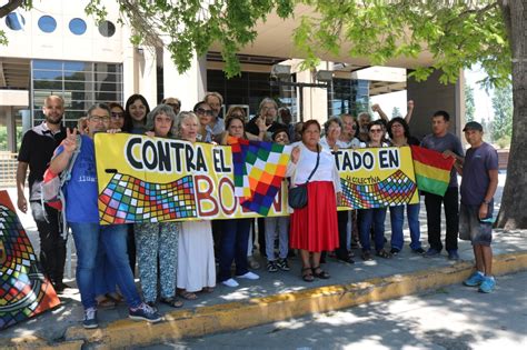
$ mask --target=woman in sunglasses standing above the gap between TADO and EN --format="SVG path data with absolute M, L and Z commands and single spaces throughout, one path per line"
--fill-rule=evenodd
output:
M 388 147 L 385 142 L 385 124 L 381 120 L 372 121 L 368 124 L 369 141 L 368 148 Z M 372 260 L 370 232 L 374 227 L 375 250 L 377 257 L 391 258 L 391 253 L 385 250 L 385 219 L 387 208 L 359 209 L 359 233 L 360 246 L 362 247 L 362 260 Z

